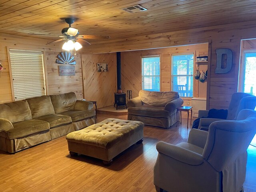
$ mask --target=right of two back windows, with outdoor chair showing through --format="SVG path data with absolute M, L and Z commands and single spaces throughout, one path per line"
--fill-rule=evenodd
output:
M 193 97 L 194 54 L 172 55 L 172 91 L 181 97 Z

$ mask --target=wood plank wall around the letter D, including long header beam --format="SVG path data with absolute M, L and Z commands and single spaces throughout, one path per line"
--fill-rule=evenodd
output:
M 206 108 L 228 108 L 231 96 L 238 90 L 241 39 L 256 38 L 255 21 L 238 22 L 134 38 L 98 42 L 86 50 L 93 53 L 139 50 L 210 42 L 208 57 L 208 91 Z M 215 74 L 216 49 L 229 48 L 233 53 L 232 70 Z M 209 83 L 210 82 L 210 83 Z

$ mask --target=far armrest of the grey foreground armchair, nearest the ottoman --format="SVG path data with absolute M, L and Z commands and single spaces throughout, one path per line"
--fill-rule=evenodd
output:
M 208 132 L 198 129 L 192 129 L 188 135 L 188 143 L 204 148 L 207 140 Z

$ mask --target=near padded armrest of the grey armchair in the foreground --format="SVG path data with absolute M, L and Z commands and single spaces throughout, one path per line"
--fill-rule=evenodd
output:
M 200 165 L 204 161 L 202 155 L 196 152 L 163 141 L 156 144 L 156 149 L 159 153 L 189 165 Z

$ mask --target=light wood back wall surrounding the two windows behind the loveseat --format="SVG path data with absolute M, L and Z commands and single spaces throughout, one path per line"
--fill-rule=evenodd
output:
M 150 49 L 150 50 L 138 50 L 121 52 L 121 70 L 122 70 L 122 90 L 132 90 L 133 98 L 138 96 L 139 91 L 142 89 L 142 76 L 141 76 L 141 58 L 142 56 L 160 56 L 160 68 L 161 68 L 161 91 L 170 91 L 171 89 L 171 57 L 172 54 L 179 53 L 194 53 L 194 56 L 199 53 L 208 54 L 208 44 L 196 44 L 189 46 L 176 46 L 170 48 Z M 194 66 L 196 64 L 194 63 Z M 206 70 L 206 65 L 200 65 L 199 70 Z M 195 68 L 195 67 L 194 67 Z M 206 97 L 206 82 L 202 83 L 198 80 L 194 81 L 194 96 Z M 190 100 L 188 100 L 190 102 Z M 188 104 L 186 102 L 186 104 Z

